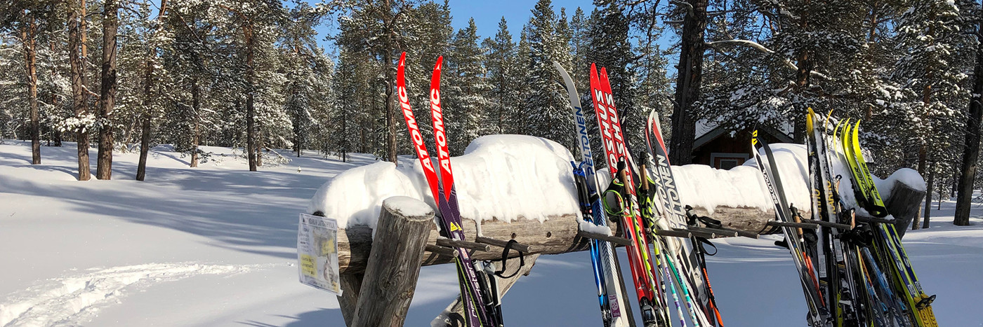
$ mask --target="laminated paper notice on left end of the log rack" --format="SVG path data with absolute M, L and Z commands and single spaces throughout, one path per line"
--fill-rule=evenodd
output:
M 297 227 L 297 260 L 301 283 L 341 295 L 338 276 L 338 222 L 301 213 Z

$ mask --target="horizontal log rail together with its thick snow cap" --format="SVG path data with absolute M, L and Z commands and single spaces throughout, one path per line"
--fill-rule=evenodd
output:
M 805 147 L 796 144 L 772 147 L 789 204 L 809 217 Z M 573 156 L 566 148 L 533 136 L 490 135 L 472 142 L 463 156 L 451 159 L 467 240 L 475 241 L 479 236 L 500 241 L 514 239 L 529 246 L 531 254 L 587 249 L 585 239 L 578 236 L 581 220 L 572 161 Z M 770 229 L 767 223 L 775 218 L 775 211 L 756 164 L 749 161 L 728 170 L 688 164 L 672 166 L 672 170 L 682 203 L 693 207 L 693 213 L 719 219 L 725 228 L 761 233 Z M 849 176 L 846 169 L 839 164 L 834 166 L 835 172 L 842 176 Z M 435 208 L 422 171 L 413 160 L 399 165 L 373 163 L 341 172 L 318 189 L 308 212 L 338 219 L 342 227 L 338 239 L 342 271 L 365 269 L 372 247 L 372 229 L 383 200 L 407 196 Z M 606 177 L 607 171 L 600 170 L 599 176 Z M 917 203 L 909 203 L 918 198 L 918 192 L 923 195 L 925 189 L 921 176 L 907 168 L 885 180 L 875 178 L 875 182 L 899 224 L 914 214 L 910 210 L 917 208 Z M 600 181 L 602 188 L 607 183 L 606 178 Z M 849 179 L 843 178 L 840 190 L 850 187 Z M 893 197 L 894 190 L 902 192 Z M 847 207 L 855 203 L 852 192 L 840 193 Z M 858 214 L 866 215 L 866 212 L 859 210 Z M 437 246 L 437 235 L 431 233 L 427 241 L 430 249 Z M 442 243 L 445 245 L 446 241 Z M 501 248 L 493 244 L 491 251 L 471 251 L 479 259 L 501 257 Z M 428 252 L 423 264 L 451 260 L 450 256 Z

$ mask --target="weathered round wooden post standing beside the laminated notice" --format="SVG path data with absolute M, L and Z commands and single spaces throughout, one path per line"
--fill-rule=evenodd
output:
M 351 326 L 403 325 L 433 226 L 434 210 L 419 200 L 392 197 L 382 202 Z

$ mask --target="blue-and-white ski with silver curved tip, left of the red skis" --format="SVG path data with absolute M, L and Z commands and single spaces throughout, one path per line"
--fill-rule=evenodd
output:
M 584 118 L 580 105 L 580 96 L 577 94 L 577 88 L 573 83 L 573 78 L 570 78 L 570 74 L 559 63 L 553 62 L 553 67 L 559 71 L 563 78 L 563 85 L 570 98 L 570 107 L 573 109 L 577 130 L 576 148 L 580 152 L 580 163 L 571 164 L 574 166 L 583 219 L 607 227 L 607 216 L 601 205 L 594 155 L 591 152 L 587 119 Z M 594 267 L 595 283 L 598 286 L 598 298 L 605 326 L 634 326 L 634 318 L 631 316 L 631 309 L 627 306 L 627 298 L 625 298 L 624 284 L 620 275 L 621 270 L 617 269 L 619 266 L 617 256 L 610 243 L 592 240 L 591 262 Z

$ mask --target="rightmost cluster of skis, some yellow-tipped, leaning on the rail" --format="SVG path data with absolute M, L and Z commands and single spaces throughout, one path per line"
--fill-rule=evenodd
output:
M 782 226 L 783 246 L 791 252 L 808 307 L 807 321 L 814 327 L 912 326 L 935 327 L 934 296 L 927 296 L 914 276 L 893 220 L 888 215 L 860 151 L 859 123 L 851 128 L 840 121 L 829 132 L 830 117 L 821 120 L 809 109 L 806 137 L 811 185 L 812 218 L 819 233 Z M 772 148 L 757 131 L 752 153 L 765 177 L 782 223 L 800 222 L 781 186 L 779 165 Z M 761 145 L 767 163 L 757 148 Z M 841 175 L 833 163 L 849 167 L 849 180 L 857 200 L 873 217 L 861 218 L 839 198 Z

